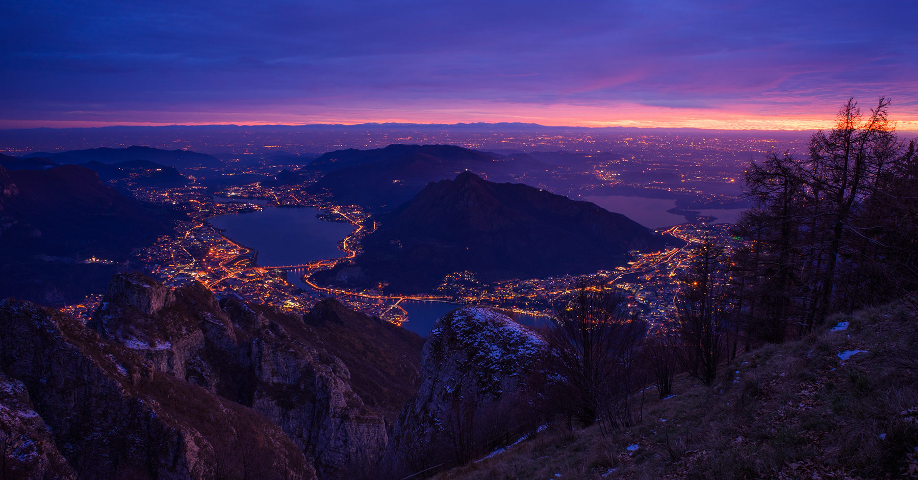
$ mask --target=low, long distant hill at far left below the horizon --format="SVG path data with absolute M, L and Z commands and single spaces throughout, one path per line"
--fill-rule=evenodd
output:
M 192 168 L 192 167 L 219 167 L 223 162 L 217 157 L 186 150 L 160 150 L 151 147 L 128 147 L 126 149 L 89 149 L 63 151 L 61 153 L 35 152 L 23 158 L 46 158 L 51 162 L 65 164 L 81 164 L 85 162 L 120 163 L 133 161 L 156 162 L 167 167 Z

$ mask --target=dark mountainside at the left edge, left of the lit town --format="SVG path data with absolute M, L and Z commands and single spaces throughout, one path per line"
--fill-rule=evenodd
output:
M 77 165 L 9 172 L 0 166 L 0 191 L 0 297 L 44 304 L 75 302 L 104 288 L 133 248 L 172 232 L 181 218 L 119 194 Z M 91 256 L 116 263 L 83 263 Z

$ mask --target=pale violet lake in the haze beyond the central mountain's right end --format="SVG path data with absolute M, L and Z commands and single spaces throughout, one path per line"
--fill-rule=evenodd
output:
M 661 229 L 680 223 L 686 223 L 686 218 L 675 215 L 666 210 L 676 207 L 675 200 L 666 198 L 644 198 L 643 196 L 625 195 L 590 195 L 583 197 L 588 202 L 593 202 L 610 212 L 621 213 L 627 218 L 644 225 L 648 229 Z M 739 218 L 744 208 L 730 208 L 725 210 L 703 209 L 697 210 L 701 215 L 716 217 L 714 223 L 733 223 Z

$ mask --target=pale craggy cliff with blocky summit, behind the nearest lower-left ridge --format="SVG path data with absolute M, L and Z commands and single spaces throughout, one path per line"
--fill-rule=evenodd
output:
M 154 370 L 270 419 L 321 478 L 372 463 L 386 446 L 383 415 L 364 406 L 348 367 L 317 348 L 320 335 L 302 318 L 236 301 L 221 307 L 203 285 L 172 291 L 134 273 L 113 280 L 92 326 Z

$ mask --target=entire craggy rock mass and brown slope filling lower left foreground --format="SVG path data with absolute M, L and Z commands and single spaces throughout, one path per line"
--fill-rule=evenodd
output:
M 27 477 L 353 478 L 416 391 L 420 346 L 335 300 L 303 318 L 138 273 L 87 325 L 6 300 L 0 446 Z

